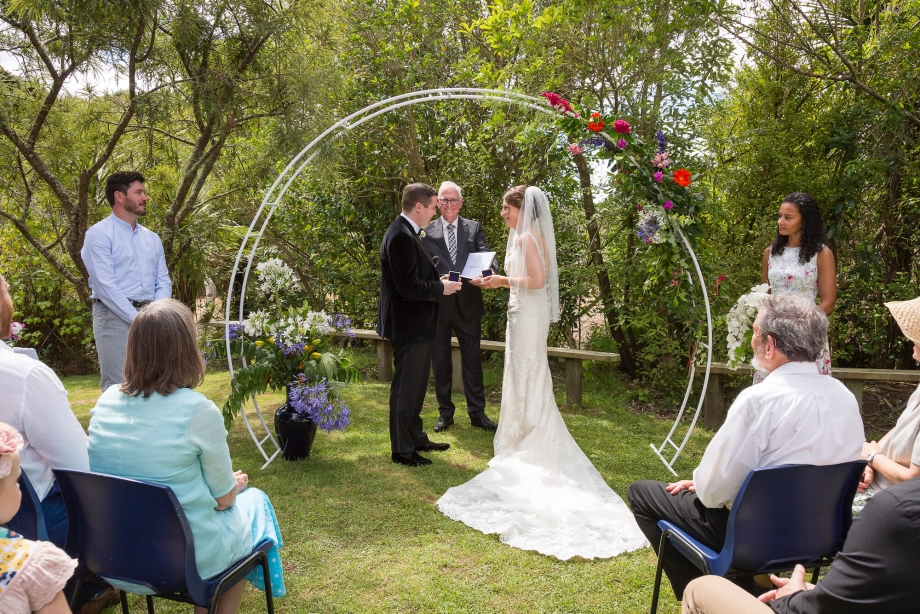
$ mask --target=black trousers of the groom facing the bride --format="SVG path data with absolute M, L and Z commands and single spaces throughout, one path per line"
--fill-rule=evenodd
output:
M 393 385 L 390 386 L 390 447 L 411 454 L 428 442 L 422 430 L 422 405 L 431 372 L 431 342 L 393 343 Z

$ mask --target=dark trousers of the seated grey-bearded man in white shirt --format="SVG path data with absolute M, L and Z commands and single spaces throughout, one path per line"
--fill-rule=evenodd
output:
M 641 480 L 632 483 L 626 492 L 629 507 L 652 548 L 657 552 L 661 544 L 658 521 L 667 520 L 716 552 L 721 550 L 725 545 L 730 510 L 706 507 L 696 493 L 687 490 L 672 495 L 665 486 L 664 482 Z M 672 547 L 667 549 L 662 568 L 678 600 L 683 598 L 690 581 L 703 575 L 696 565 Z

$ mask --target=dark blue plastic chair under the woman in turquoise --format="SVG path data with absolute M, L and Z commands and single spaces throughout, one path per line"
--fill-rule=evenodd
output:
M 268 614 L 274 614 L 267 556 L 271 541 L 263 540 L 245 558 L 204 579 L 195 564 L 191 527 L 171 488 L 69 469 L 54 469 L 54 475 L 70 516 L 64 549 L 89 572 L 105 580 L 140 584 L 154 591 L 153 596 L 213 613 L 220 596 L 261 565 Z M 77 581 L 75 595 L 81 582 Z M 123 591 L 121 606 L 128 614 Z M 153 614 L 150 595 L 147 611 Z

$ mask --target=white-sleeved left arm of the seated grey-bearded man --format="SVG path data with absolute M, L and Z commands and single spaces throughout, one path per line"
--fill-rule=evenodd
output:
M 703 505 L 731 507 L 751 470 L 760 466 L 765 442 L 751 429 L 753 419 L 749 395 L 742 391 L 725 417 L 725 424 L 706 446 L 699 466 L 693 470 L 693 485 Z

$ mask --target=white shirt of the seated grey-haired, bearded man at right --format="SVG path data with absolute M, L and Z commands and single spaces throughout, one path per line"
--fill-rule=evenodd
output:
M 753 469 L 859 460 L 865 440 L 853 393 L 813 362 L 789 362 L 732 403 L 693 471 L 696 494 L 731 507 Z

